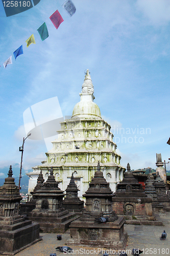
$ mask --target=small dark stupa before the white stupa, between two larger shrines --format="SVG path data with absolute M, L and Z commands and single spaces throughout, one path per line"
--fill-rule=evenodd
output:
M 74 180 L 74 175 L 72 173 L 70 182 L 65 189 L 66 191 L 66 198 L 63 200 L 63 207 L 67 209 L 68 211 L 75 211 L 80 212 L 84 210 L 84 201 L 81 201 L 78 197 L 78 191 L 80 191 L 77 188 L 77 185 Z

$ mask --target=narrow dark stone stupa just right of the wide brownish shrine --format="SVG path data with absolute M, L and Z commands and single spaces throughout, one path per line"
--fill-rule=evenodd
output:
M 156 189 L 154 187 L 154 176 L 151 173 L 151 168 L 149 170 L 148 179 L 145 182 L 144 193 L 147 197 L 152 198 L 152 209 L 154 212 L 163 212 L 163 205 L 158 202 Z

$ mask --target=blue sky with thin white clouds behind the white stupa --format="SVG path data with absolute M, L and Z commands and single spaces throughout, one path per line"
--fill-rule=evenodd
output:
M 26 137 L 23 112 L 57 96 L 63 116 L 80 101 L 84 71 L 89 69 L 94 102 L 112 126 L 113 141 L 132 169 L 155 168 L 156 153 L 170 158 L 170 2 L 167 0 L 73 0 L 70 17 L 64 1 L 41 0 L 34 8 L 6 17 L 0 3 L 0 177 L 1 168 L 20 163 Z M 58 29 L 49 17 L 58 9 Z M 37 29 L 46 23 L 44 41 Z M 34 34 L 36 44 L 26 47 Z M 13 52 L 23 45 L 16 61 Z M 12 55 L 12 65 L 3 62 Z M 25 142 L 23 173 L 45 160 L 43 140 Z M 169 169 L 170 165 L 167 165 Z

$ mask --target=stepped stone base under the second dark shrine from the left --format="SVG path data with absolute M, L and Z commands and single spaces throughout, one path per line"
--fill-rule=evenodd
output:
M 64 233 L 72 221 L 80 217 L 75 213 L 63 210 L 56 211 L 31 211 L 27 215 L 28 220 L 34 220 L 40 225 L 40 232 L 43 233 Z

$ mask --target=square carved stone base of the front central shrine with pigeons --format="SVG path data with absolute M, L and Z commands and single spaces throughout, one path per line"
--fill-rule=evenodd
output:
M 125 249 L 128 234 L 124 231 L 124 223 L 122 217 L 107 223 L 76 220 L 70 224 L 70 239 L 66 245 Z

